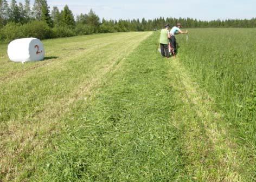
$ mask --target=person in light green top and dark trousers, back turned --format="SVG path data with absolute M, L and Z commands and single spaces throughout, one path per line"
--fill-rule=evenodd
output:
M 169 28 L 170 28 L 170 25 L 166 24 L 164 26 L 164 29 L 161 30 L 161 34 L 160 34 L 159 43 L 160 43 L 161 55 L 163 57 L 170 57 L 169 50 L 168 50 L 168 44 L 169 44 L 168 32 L 169 32 Z

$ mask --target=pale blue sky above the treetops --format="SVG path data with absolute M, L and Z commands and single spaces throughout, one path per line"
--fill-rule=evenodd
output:
M 24 2 L 24 1 L 17 1 Z M 34 1 L 30 1 L 31 4 Z M 256 17 L 255 0 L 48 0 L 50 7 L 57 6 L 60 10 L 66 4 L 74 15 L 88 13 L 93 9 L 100 18 L 132 19 L 157 17 L 190 17 L 201 20 L 213 19 L 251 19 Z

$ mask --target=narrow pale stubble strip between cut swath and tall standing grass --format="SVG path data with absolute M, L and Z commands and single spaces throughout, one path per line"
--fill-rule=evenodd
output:
M 247 181 L 243 172 L 247 163 L 245 149 L 231 138 L 229 126 L 217 110 L 214 100 L 190 77 L 179 58 L 170 61 L 173 87 L 181 110 L 172 117 L 183 127 L 184 153 L 189 161 L 187 172 L 196 181 Z M 181 112 L 182 115 L 181 115 Z

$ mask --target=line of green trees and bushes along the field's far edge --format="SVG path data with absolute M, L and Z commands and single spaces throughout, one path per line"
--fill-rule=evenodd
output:
M 155 19 L 119 19 L 100 18 L 93 10 L 88 14 L 76 16 L 66 5 L 63 10 L 57 6 L 50 12 L 47 0 L 35 0 L 31 6 L 29 0 L 24 4 L 11 0 L 0 0 L 0 41 L 7 42 L 21 37 L 40 39 L 88 35 L 92 33 L 152 31 L 177 22 L 185 28 L 255 28 L 256 18 L 226 19 L 221 21 L 201 21 L 193 18 L 155 18 Z

